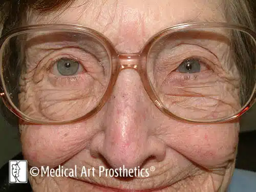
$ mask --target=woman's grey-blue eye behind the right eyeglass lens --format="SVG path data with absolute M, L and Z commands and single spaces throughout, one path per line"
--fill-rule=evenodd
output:
M 183 60 L 176 71 L 180 73 L 199 73 L 201 71 L 201 65 L 198 59 L 189 58 Z

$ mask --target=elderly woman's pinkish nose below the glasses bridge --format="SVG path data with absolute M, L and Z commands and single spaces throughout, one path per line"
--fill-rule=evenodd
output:
M 122 70 L 106 102 L 103 132 L 95 136 L 91 153 L 100 154 L 114 168 L 141 166 L 148 159 L 164 159 L 164 143 L 155 133 L 159 113 L 134 69 Z

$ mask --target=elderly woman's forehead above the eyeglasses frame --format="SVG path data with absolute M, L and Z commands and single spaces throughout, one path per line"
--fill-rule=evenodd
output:
M 211 0 L 77 0 L 50 14 L 31 12 L 29 25 L 77 24 L 108 37 L 119 52 L 138 52 L 162 29 L 188 22 L 225 22 L 222 2 Z

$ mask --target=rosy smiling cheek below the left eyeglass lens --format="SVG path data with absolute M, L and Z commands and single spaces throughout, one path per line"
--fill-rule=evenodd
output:
M 21 127 L 23 154 L 32 166 L 55 167 L 88 147 L 94 134 L 84 123 Z

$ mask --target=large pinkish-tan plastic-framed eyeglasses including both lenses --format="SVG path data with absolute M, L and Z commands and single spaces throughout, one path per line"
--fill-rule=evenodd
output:
M 181 24 L 154 35 L 140 52 L 122 54 L 82 26 L 16 28 L 0 39 L 1 96 L 25 121 L 78 122 L 101 109 L 120 71 L 134 69 L 167 116 L 228 121 L 255 101 L 255 37 L 238 25 Z

